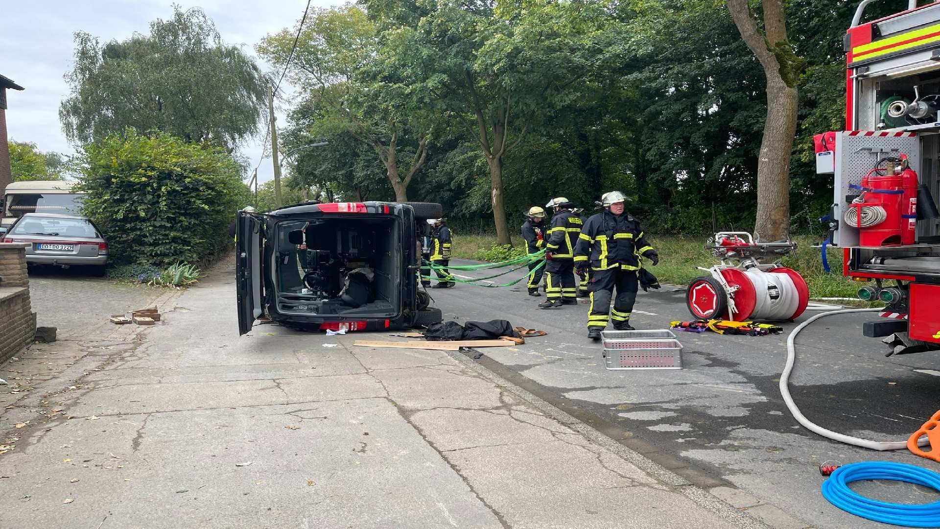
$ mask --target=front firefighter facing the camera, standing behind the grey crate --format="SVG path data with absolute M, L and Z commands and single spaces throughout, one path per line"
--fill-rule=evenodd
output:
M 587 219 L 574 249 L 578 271 L 587 272 L 589 267 L 591 275 L 587 313 L 587 337 L 591 340 L 600 340 L 601 331 L 607 327 L 615 287 L 617 297 L 610 314 L 614 329 L 634 330 L 630 313 L 636 301 L 639 256 L 659 264 L 659 255 L 644 237 L 639 221 L 624 210 L 625 200 L 619 191 L 605 193 L 601 198 L 603 212 Z

